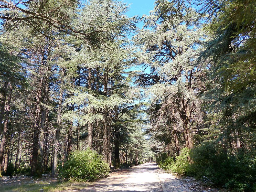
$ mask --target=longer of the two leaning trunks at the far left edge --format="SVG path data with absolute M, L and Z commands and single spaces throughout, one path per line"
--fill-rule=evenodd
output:
M 7 105 L 6 105 L 6 113 L 5 113 L 5 120 L 4 120 L 4 129 L 3 129 L 3 134 L 2 134 L 2 139 L 1 139 L 1 145 L 0 145 L 0 175 L 2 172 L 2 162 L 3 162 L 3 155 L 4 155 L 4 145 L 5 145 L 5 138 L 6 138 L 6 132 L 7 132 L 7 124 L 9 120 L 9 113 L 10 113 L 10 102 L 12 98 L 12 84 L 9 84 L 10 89 L 9 89 L 9 95 L 8 95 L 8 100 L 7 100 Z

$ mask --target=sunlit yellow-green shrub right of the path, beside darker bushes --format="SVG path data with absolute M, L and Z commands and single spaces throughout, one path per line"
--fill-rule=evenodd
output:
M 189 149 L 182 148 L 179 156 L 176 157 L 175 162 L 171 164 L 170 170 L 180 175 L 187 174 L 189 169 Z

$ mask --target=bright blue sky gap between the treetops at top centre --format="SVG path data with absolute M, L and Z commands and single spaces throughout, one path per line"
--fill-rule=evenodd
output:
M 122 2 L 130 5 L 130 10 L 127 12 L 128 17 L 135 15 L 149 15 L 149 12 L 154 9 L 155 0 L 123 0 Z M 141 29 L 143 23 L 138 23 L 137 26 Z

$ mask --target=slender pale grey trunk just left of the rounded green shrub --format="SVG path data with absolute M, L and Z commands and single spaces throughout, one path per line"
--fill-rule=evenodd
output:
M 61 127 L 61 106 L 62 106 L 62 95 L 63 90 L 62 86 L 62 77 L 64 75 L 64 69 L 61 69 L 61 78 L 60 78 L 60 94 L 59 94 L 59 107 L 58 107 L 58 116 L 57 116 L 57 129 L 56 129 L 56 138 L 55 138 L 55 145 L 54 145 L 54 156 L 53 156 L 53 164 L 51 169 L 51 177 L 57 176 L 57 161 L 58 161 L 58 151 L 59 151 L 59 139 L 60 139 L 60 127 Z

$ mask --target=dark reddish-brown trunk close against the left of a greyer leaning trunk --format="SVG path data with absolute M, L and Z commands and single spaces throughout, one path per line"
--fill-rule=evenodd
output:
M 36 110 L 34 120 L 34 136 L 33 136 L 33 148 L 32 148 L 32 161 L 30 175 L 36 175 L 37 153 L 38 153 L 38 140 L 39 140 L 39 128 L 40 128 L 40 98 L 42 90 L 42 81 L 39 82 L 39 90 L 36 96 Z

